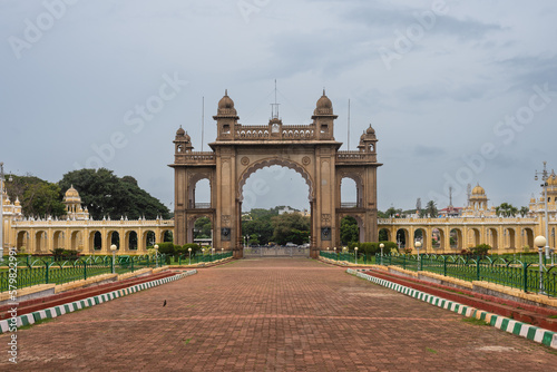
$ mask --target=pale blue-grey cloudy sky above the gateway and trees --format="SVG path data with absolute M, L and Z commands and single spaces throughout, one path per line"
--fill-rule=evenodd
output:
M 469 183 L 526 205 L 557 168 L 556 19 L 553 0 L 1 0 L 0 161 L 50 182 L 102 166 L 172 208 L 176 129 L 206 150 L 226 88 L 266 124 L 277 79 L 284 124 L 325 87 L 343 149 L 349 99 L 350 149 L 375 128 L 380 209 L 444 207 L 449 186 L 462 206 Z M 245 187 L 251 206 L 309 206 L 293 170 Z

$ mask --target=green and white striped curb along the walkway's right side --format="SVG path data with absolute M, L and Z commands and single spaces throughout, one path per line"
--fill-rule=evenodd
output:
M 548 330 L 540 329 L 538 326 L 526 324 L 521 322 L 514 321 L 509 317 L 505 317 L 501 315 L 497 315 L 494 313 L 489 313 L 483 310 L 479 310 L 476 307 L 467 306 L 460 304 L 458 302 L 444 300 L 424 292 L 420 292 L 413 288 L 410 288 L 404 285 L 400 285 L 393 282 L 389 282 L 379 277 L 374 277 L 353 268 L 348 268 L 346 273 L 355 275 L 358 277 L 364 278 L 367 281 L 373 282 L 375 284 L 382 285 L 384 287 L 391 288 L 393 291 L 400 292 L 402 294 L 409 295 L 411 297 L 424 301 L 431 305 L 450 310 L 457 314 L 465 315 L 467 317 L 476 317 L 481 321 L 485 321 L 491 326 L 499 329 L 501 331 L 506 331 L 508 333 L 512 333 L 528 340 L 541 343 L 551 349 L 557 349 L 557 333 Z

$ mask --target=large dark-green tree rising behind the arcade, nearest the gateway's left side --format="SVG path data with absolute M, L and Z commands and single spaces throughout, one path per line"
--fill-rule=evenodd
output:
M 157 215 L 169 218 L 168 208 L 139 188 L 134 177 L 118 178 L 106 168 L 69 172 L 58 184 L 63 190 L 74 185 L 95 219 L 104 216 L 154 219 Z

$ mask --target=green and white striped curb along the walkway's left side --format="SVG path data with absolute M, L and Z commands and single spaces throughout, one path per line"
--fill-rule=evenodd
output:
M 98 304 L 101 304 L 104 302 L 108 302 L 118 297 L 126 296 L 131 293 L 136 293 L 139 291 L 148 290 L 154 286 L 163 285 L 169 282 L 174 282 L 177 280 L 180 280 L 183 277 L 189 276 L 197 274 L 197 270 L 190 270 L 187 272 L 183 272 L 180 274 L 176 274 L 174 276 L 168 276 L 168 277 L 163 277 L 156 281 L 152 282 L 146 282 L 141 284 L 136 284 L 133 286 L 128 286 L 126 288 L 121 288 L 118 291 L 113 291 L 104 294 L 99 294 L 92 297 L 75 301 L 71 303 L 67 303 L 63 305 L 58 305 L 53 306 L 50 309 L 46 310 L 40 310 L 30 314 L 25 314 L 20 315 L 17 317 L 10 317 L 3 321 L 0 321 L 0 334 L 1 333 L 7 333 L 10 329 L 13 330 L 13 323 L 16 323 L 17 327 L 23 326 L 23 325 L 30 325 L 35 324 L 36 322 L 46 320 L 46 319 L 52 319 L 52 317 L 58 317 L 60 315 L 63 315 L 66 313 L 71 313 L 77 310 L 86 309 L 86 307 L 91 307 Z

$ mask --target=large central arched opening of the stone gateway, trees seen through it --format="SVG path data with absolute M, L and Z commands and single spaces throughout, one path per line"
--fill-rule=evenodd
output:
M 299 164 L 284 159 L 260 161 L 246 169 L 238 185 L 242 228 L 237 244 L 261 249 L 297 246 L 303 247 L 301 254 L 309 254 L 312 234 L 312 184 L 309 177 Z M 309 193 L 293 192 L 301 189 Z M 330 246 L 333 246 L 333 239 L 339 239 L 338 234 L 331 234 L 334 222 L 329 217 L 323 223 L 330 227 L 321 238 L 330 241 Z M 272 248 L 274 245 L 277 247 Z

